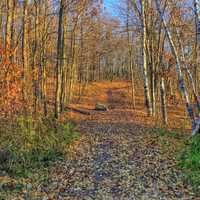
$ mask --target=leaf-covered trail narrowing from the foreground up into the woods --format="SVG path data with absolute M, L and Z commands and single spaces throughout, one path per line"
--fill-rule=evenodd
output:
M 158 136 L 133 122 L 122 90 L 106 95 L 111 110 L 79 122 L 83 138 L 71 147 L 69 160 L 57 163 L 40 192 L 70 200 L 192 199 Z

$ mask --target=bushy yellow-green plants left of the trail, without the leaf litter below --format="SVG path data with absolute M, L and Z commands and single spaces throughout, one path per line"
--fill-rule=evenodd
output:
M 63 159 L 68 145 L 79 137 L 71 124 L 50 118 L 20 117 L 0 132 L 0 153 L 4 154 L 1 170 L 23 177 Z

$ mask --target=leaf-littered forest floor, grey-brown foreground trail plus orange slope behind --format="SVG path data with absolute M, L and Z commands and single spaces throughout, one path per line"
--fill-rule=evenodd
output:
M 91 114 L 70 111 L 62 117 L 77 125 L 81 139 L 70 146 L 68 159 L 56 162 L 48 179 L 29 191 L 31 199 L 200 199 L 176 167 L 176 152 L 189 137 L 184 107 L 169 105 L 169 129 L 176 132 L 162 134 L 155 128 L 160 119 L 146 115 L 142 94 L 130 109 L 129 90 L 127 82 L 93 83 L 74 100 L 71 107 Z M 94 111 L 97 102 L 109 110 Z

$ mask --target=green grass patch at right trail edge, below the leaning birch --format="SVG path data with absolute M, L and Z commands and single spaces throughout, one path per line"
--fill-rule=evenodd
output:
M 176 159 L 186 184 L 190 185 L 195 193 L 200 194 L 200 135 L 191 138 L 183 133 L 162 128 L 154 128 L 152 133 L 159 138 L 162 149 Z

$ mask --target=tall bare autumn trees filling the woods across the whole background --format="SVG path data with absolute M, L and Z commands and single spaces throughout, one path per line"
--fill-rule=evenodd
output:
M 132 108 L 139 88 L 148 115 L 162 116 L 167 124 L 169 99 L 183 94 L 196 123 L 199 1 L 194 0 L 195 12 L 190 6 L 186 0 L 122 0 L 117 18 L 100 0 L 1 1 L 1 87 L 8 80 L 19 84 L 18 98 L 9 105 L 16 100 L 18 113 L 53 111 L 58 118 L 75 85 L 81 97 L 90 81 L 120 78 L 130 81 Z

